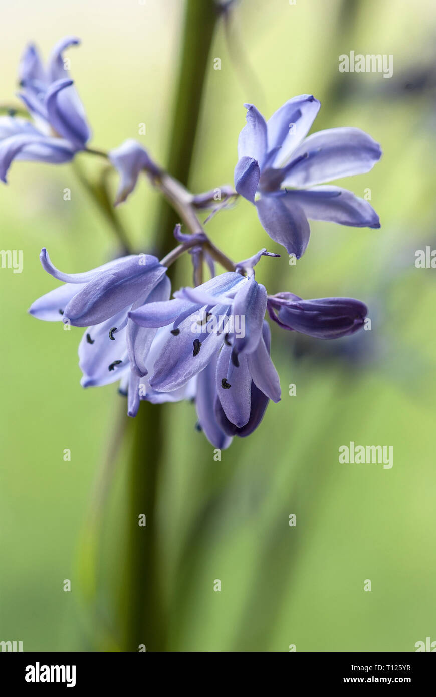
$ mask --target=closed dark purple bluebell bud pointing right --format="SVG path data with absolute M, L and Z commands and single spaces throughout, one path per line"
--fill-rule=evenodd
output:
M 339 339 L 364 326 L 368 308 L 354 298 L 302 300 L 293 293 L 268 296 L 268 314 L 287 330 L 316 339 Z M 277 314 L 276 314 L 277 313 Z

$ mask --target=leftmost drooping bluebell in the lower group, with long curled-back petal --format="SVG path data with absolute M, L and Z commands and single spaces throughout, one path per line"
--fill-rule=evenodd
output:
M 33 302 L 29 313 L 45 321 L 86 327 L 79 345 L 81 384 L 122 380 L 124 389 L 127 381 L 128 413 L 135 415 L 139 383 L 148 373 L 146 361 L 157 330 L 139 328 L 127 313 L 145 302 L 169 298 L 166 268 L 155 256 L 132 254 L 86 273 L 68 274 L 53 266 L 47 250 L 42 249 L 40 259 L 43 268 L 64 284 Z M 151 360 L 153 365 L 155 356 Z

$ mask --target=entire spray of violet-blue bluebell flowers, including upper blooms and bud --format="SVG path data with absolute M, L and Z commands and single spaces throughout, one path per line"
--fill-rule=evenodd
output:
M 75 38 L 63 39 L 46 67 L 35 47 L 26 49 L 20 64 L 20 98 L 35 125 L 13 115 L 0 118 L 3 181 L 13 160 L 61 164 L 79 151 L 93 152 L 87 148 L 90 130 L 84 109 L 63 62 L 64 49 L 77 43 Z M 380 227 L 367 201 L 324 185 L 369 171 L 380 158 L 380 147 L 356 128 L 307 136 L 319 108 L 313 96 L 301 95 L 265 122 L 256 107 L 247 105 L 247 124 L 238 141 L 231 195 L 251 201 L 270 238 L 297 258 L 309 242 L 308 218 Z M 284 330 L 337 339 L 361 329 L 366 305 L 350 298 L 269 295 L 256 281 L 255 267 L 262 256 L 279 255 L 263 249 L 240 263 L 230 262 L 212 245 L 196 217 L 196 210 L 213 207 L 209 194 L 189 194 L 135 141 L 107 153 L 107 160 L 120 174 L 114 204 L 125 201 L 146 172 L 153 183 L 161 183 L 162 193 L 173 205 L 176 202 L 176 209 L 186 213 L 183 222 L 188 229 L 194 220 L 191 234 L 178 226 L 180 245 L 161 261 L 149 254 L 130 254 L 75 274 L 57 269 L 44 248 L 42 267 L 62 285 L 33 302 L 29 312 L 38 319 L 85 328 L 79 345 L 84 387 L 119 382 L 130 416 L 137 415 L 141 400 L 193 400 L 199 428 L 210 443 L 228 447 L 233 436 L 251 434 L 269 401 L 280 399 L 265 315 Z M 171 298 L 167 264 L 185 252 L 191 253 L 198 281 Z M 215 261 L 228 270 L 216 275 Z M 211 275 L 206 282 L 204 263 Z

